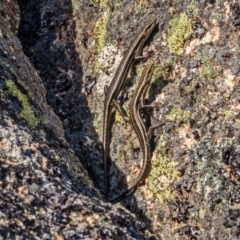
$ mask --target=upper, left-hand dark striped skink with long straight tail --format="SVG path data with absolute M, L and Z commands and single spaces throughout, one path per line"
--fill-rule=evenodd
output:
M 134 62 L 134 59 L 140 55 L 143 45 L 157 25 L 157 20 L 154 19 L 149 24 L 144 26 L 136 37 L 133 44 L 127 50 L 119 67 L 111 81 L 109 87 L 106 88 L 106 97 L 104 100 L 104 113 L 103 113 L 103 165 L 104 165 L 104 178 L 105 178 L 105 198 L 108 196 L 108 171 L 107 164 L 109 158 L 109 139 L 110 139 L 110 121 L 111 112 L 114 105 L 114 100 L 118 96 L 123 83 L 128 75 L 128 72 Z

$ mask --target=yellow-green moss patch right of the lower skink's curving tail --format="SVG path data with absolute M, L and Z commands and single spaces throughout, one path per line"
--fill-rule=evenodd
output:
M 178 180 L 180 172 L 176 169 L 176 163 L 167 156 L 167 149 L 160 146 L 157 150 L 157 160 L 153 164 L 149 174 L 148 186 L 150 191 L 162 203 L 174 198 L 171 185 Z

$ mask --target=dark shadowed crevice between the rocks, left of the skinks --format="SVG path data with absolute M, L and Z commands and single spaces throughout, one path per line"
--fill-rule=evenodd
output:
M 62 121 L 67 142 L 88 170 L 95 187 L 102 191 L 101 143 L 96 141 L 94 117 L 83 93 L 71 1 L 19 0 L 18 3 L 18 37 L 23 51 L 43 81 L 47 102 Z

